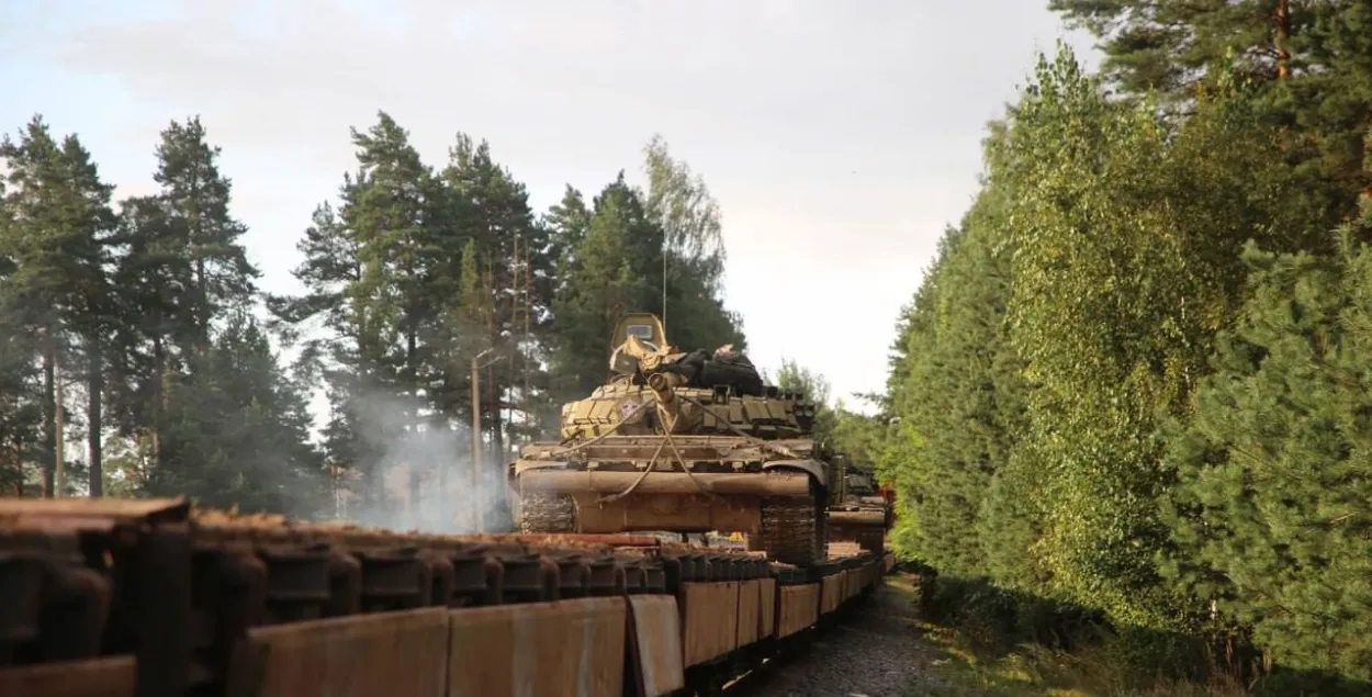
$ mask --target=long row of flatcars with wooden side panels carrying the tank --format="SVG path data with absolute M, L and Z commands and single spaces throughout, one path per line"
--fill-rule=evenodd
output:
M 715 694 L 892 563 L 0 499 L 0 696 Z

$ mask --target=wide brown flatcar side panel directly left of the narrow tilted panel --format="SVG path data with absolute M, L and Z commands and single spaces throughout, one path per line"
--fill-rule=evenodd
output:
M 450 617 L 447 697 L 623 694 L 624 598 L 457 609 Z

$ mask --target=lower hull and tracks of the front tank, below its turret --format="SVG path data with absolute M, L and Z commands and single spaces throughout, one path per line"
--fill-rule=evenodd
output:
M 525 532 L 741 532 L 807 565 L 825 550 L 825 464 L 809 440 L 705 435 L 535 443 L 510 465 Z

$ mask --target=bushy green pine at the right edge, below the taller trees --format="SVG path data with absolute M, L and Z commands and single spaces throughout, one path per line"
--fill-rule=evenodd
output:
M 1168 568 L 1281 664 L 1369 679 L 1372 252 L 1247 258 L 1254 294 L 1173 440 Z

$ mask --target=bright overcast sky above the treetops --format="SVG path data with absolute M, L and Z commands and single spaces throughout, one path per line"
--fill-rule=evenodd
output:
M 158 132 L 199 114 L 276 292 L 354 166 L 348 126 L 379 108 L 431 165 L 457 132 L 490 140 L 536 210 L 637 177 L 661 133 L 719 199 L 753 361 L 797 359 L 845 398 L 881 390 L 985 122 L 1069 38 L 1044 5 L 0 0 L 0 128 L 41 113 L 78 133 L 122 198 L 152 189 Z

